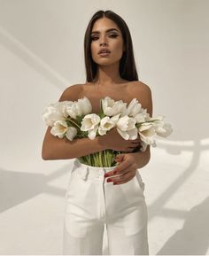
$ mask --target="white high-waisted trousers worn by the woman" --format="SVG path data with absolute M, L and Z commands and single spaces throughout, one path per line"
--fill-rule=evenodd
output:
M 104 174 L 75 159 L 66 190 L 63 254 L 102 255 L 104 225 L 109 254 L 148 254 L 147 206 L 141 175 L 113 185 Z

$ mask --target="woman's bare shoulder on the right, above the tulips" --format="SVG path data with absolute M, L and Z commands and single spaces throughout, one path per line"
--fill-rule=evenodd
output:
M 151 88 L 143 81 L 133 81 L 128 87 L 129 95 L 136 97 L 144 109 L 152 115 Z

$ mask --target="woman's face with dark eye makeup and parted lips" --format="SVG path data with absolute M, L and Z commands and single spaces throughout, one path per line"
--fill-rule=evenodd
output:
M 107 49 L 110 53 L 99 54 Z M 125 46 L 119 27 L 112 19 L 97 19 L 91 30 L 91 56 L 99 66 L 109 66 L 119 62 Z

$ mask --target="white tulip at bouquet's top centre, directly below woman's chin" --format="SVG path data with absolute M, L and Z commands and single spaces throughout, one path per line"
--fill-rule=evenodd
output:
M 122 100 L 114 101 L 111 97 L 104 97 L 102 99 L 103 112 L 107 116 L 117 115 L 121 112 L 126 111 L 127 103 Z

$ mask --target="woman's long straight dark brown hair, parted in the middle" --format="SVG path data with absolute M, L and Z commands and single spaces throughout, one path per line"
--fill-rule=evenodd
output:
M 85 66 L 86 66 L 86 80 L 93 81 L 97 74 L 97 63 L 95 63 L 91 57 L 90 43 L 91 43 L 91 30 L 97 19 L 101 18 L 112 19 L 120 28 L 123 42 L 126 50 L 123 52 L 122 58 L 120 58 L 120 76 L 121 78 L 128 81 L 138 81 L 138 74 L 135 68 L 135 58 L 133 52 L 133 44 L 128 26 L 124 19 L 118 14 L 112 11 L 98 11 L 96 12 L 89 21 L 89 25 L 86 29 L 84 37 L 84 55 L 85 55 Z

